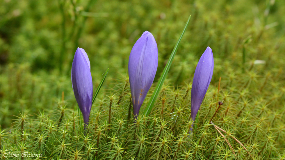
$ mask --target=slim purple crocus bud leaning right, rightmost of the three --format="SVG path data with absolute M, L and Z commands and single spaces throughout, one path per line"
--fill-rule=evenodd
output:
M 210 47 L 202 54 L 193 78 L 191 90 L 191 120 L 194 122 L 210 85 L 214 70 L 214 57 Z M 193 127 L 193 125 L 192 125 Z M 192 128 L 191 128 L 192 131 Z

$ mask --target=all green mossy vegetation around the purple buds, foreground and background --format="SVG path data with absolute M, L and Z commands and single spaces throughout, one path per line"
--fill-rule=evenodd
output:
M 1 159 L 285 159 L 284 1 L 0 4 Z M 133 123 L 128 58 L 145 30 L 158 45 L 158 70 Z M 207 46 L 213 78 L 189 134 L 193 75 Z M 93 91 L 109 68 L 86 131 L 70 78 L 77 47 L 90 59 Z M 215 114 L 218 101 L 224 104 Z M 9 152 L 42 157 L 5 157 Z

